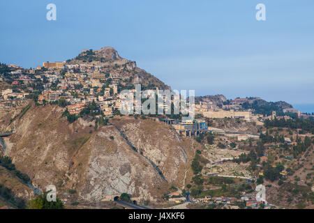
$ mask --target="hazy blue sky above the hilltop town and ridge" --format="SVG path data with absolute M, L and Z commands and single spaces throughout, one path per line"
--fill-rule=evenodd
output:
M 48 21 L 47 4 L 57 6 Z M 264 3 L 266 21 L 255 6 Z M 0 1 L 0 62 L 24 68 L 111 46 L 177 90 L 313 105 L 313 0 Z

